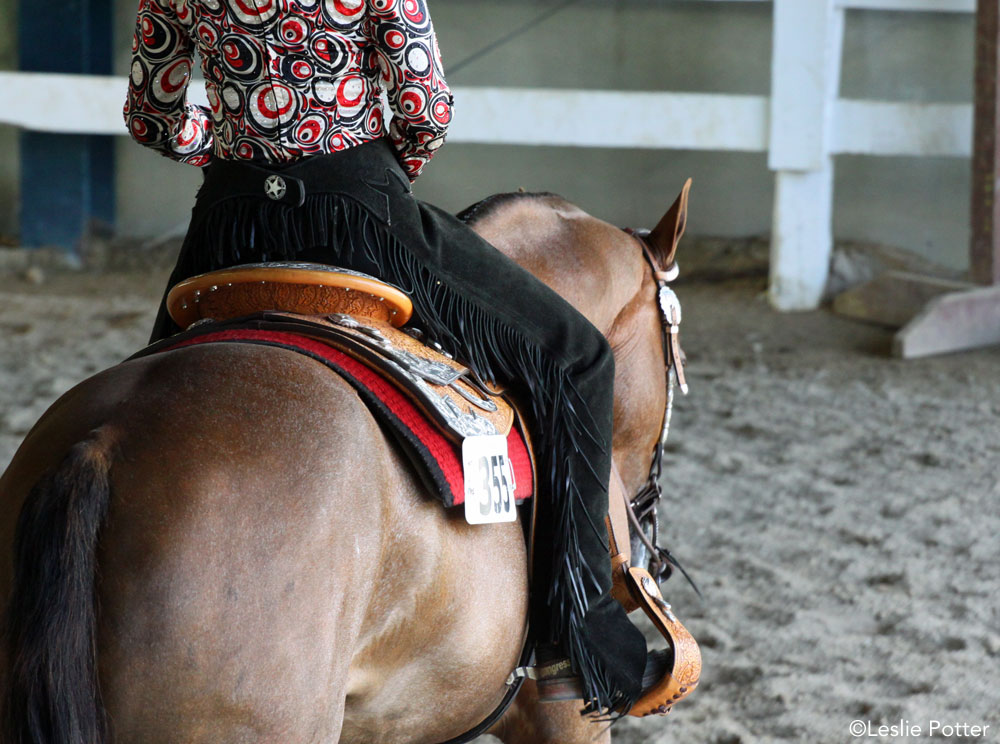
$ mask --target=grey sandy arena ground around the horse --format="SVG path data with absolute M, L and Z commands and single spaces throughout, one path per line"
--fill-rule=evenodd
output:
M 162 268 L 0 274 L 0 468 L 62 392 L 138 348 Z M 1000 742 L 1000 350 L 900 362 L 887 331 L 686 284 L 667 585 L 700 691 L 638 742 Z M 854 739 L 854 720 L 922 736 Z M 966 733 L 972 729 L 966 729 Z M 948 733 L 947 731 L 943 733 Z M 485 741 L 485 740 L 484 740 Z

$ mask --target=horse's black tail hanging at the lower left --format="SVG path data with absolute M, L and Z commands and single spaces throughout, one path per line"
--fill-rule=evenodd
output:
M 107 447 L 75 445 L 24 503 L 4 618 L 7 744 L 103 744 L 96 550 L 110 501 Z

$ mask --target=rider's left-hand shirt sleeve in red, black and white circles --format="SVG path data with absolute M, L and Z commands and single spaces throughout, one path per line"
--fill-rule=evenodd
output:
M 208 165 L 212 117 L 187 102 L 195 45 L 185 21 L 190 8 L 176 0 L 141 0 L 132 39 L 125 123 L 142 145 L 174 160 Z M 179 13 L 181 15 L 179 15 Z

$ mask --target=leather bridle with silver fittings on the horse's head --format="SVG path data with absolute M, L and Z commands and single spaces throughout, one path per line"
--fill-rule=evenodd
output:
M 628 509 L 626 511 L 634 536 L 649 551 L 649 572 L 657 582 L 665 581 L 669 578 L 673 568 L 676 567 L 688 582 L 691 583 L 695 591 L 697 591 L 698 587 L 695 586 L 684 568 L 670 554 L 670 551 L 656 544 L 660 527 L 657 505 L 663 497 L 660 476 L 663 473 L 663 453 L 667 437 L 670 435 L 670 419 L 674 410 L 674 392 L 679 387 L 681 393 L 684 395 L 688 393 L 687 379 L 684 376 L 684 352 L 681 351 L 679 339 L 681 303 L 669 286 L 670 282 L 677 279 L 680 269 L 677 266 L 676 260 L 671 260 L 670 265 L 666 268 L 660 266 L 659 259 L 649 245 L 649 230 L 625 228 L 625 232 L 635 238 L 642 247 L 642 255 L 646 263 L 649 264 L 653 272 L 653 278 L 656 280 L 656 301 L 660 311 L 660 333 L 663 341 L 663 356 L 667 371 L 667 404 L 663 411 L 660 436 L 656 442 L 656 446 L 653 448 L 649 476 L 638 493 L 628 502 Z

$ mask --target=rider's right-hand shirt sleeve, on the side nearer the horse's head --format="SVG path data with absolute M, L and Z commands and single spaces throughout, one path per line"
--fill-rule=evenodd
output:
M 389 137 L 413 181 L 444 144 L 454 101 L 424 0 L 372 0 L 376 49 L 392 121 Z

